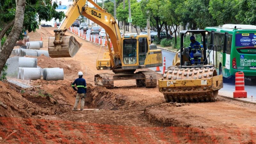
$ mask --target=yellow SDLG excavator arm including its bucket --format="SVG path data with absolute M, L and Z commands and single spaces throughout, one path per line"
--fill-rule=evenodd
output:
M 54 30 L 55 37 L 49 38 L 48 51 L 50 57 L 73 57 L 79 48 L 82 46 L 73 36 L 65 36 L 67 29 L 73 24 L 73 22 L 83 15 L 86 18 L 92 20 L 93 22 L 100 25 L 106 31 L 106 36 L 108 36 L 112 41 L 113 50 L 110 48 L 109 41 L 108 50 L 110 55 L 110 62 L 112 68 L 115 69 L 116 65 L 114 59 L 121 59 L 121 35 L 114 17 L 102 9 L 98 4 L 94 3 L 92 0 L 87 0 L 95 8 L 91 8 L 86 5 L 86 0 L 75 0 L 73 4 L 68 9 L 64 21 L 61 23 L 59 29 Z

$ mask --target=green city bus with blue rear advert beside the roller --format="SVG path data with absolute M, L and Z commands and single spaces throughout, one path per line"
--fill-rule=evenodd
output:
M 256 81 L 256 26 L 225 24 L 219 27 L 207 27 L 207 47 L 210 64 L 217 68 L 223 80 L 234 80 L 235 73 L 242 71 L 244 77 Z M 210 53 L 209 53 L 210 52 Z

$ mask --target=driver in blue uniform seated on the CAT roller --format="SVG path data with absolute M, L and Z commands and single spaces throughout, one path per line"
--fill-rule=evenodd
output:
M 195 36 L 190 36 L 190 41 L 191 41 L 191 43 L 188 46 L 189 49 L 191 50 L 191 52 L 189 53 L 190 58 L 191 58 L 190 62 L 191 62 L 191 66 L 194 66 L 195 65 L 194 53 L 196 53 L 196 52 L 200 53 L 200 50 L 203 47 L 203 45 L 200 44 L 198 41 L 196 41 L 196 37 Z M 198 56 L 197 57 L 198 64 L 201 64 L 200 63 L 201 57 L 202 56 Z

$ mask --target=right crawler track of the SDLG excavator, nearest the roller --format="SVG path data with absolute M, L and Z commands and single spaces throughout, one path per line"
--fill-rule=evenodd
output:
M 156 74 L 151 71 L 140 71 L 136 74 L 144 75 L 145 79 L 136 79 L 137 86 L 145 86 L 146 88 L 155 88 L 157 84 Z

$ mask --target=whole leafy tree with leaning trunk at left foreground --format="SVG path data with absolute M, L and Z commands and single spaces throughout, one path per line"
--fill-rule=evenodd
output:
M 0 71 L 25 30 L 35 31 L 41 20 L 64 18 L 64 12 L 55 11 L 57 6 L 55 2 L 52 5 L 51 0 L 17 0 L 17 4 L 15 0 L 0 1 L 0 39 L 6 37 L 0 48 Z

